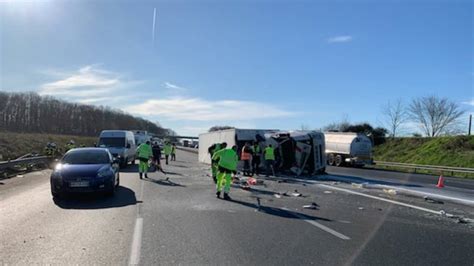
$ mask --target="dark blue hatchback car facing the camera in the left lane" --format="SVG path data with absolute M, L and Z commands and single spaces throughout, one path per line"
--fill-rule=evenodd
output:
M 51 174 L 51 194 L 53 198 L 74 192 L 106 192 L 113 195 L 120 183 L 118 163 L 107 149 L 72 149 Z

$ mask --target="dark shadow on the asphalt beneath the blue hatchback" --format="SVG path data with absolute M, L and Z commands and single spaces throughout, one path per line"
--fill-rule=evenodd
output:
M 142 203 L 137 201 L 133 190 L 119 186 L 114 196 L 105 196 L 102 193 L 70 194 L 61 199 L 53 199 L 62 209 L 108 209 L 119 208 Z

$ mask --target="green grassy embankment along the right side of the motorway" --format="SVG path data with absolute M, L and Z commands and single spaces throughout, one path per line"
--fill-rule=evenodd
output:
M 474 136 L 395 138 L 374 147 L 378 161 L 474 168 Z

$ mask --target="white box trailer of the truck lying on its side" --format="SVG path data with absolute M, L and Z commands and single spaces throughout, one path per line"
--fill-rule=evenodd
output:
M 208 148 L 215 143 L 227 142 L 227 147 L 237 145 L 238 151 L 245 145 L 245 142 L 265 141 L 265 133 L 276 132 L 271 129 L 226 129 L 199 135 L 199 162 L 211 164 L 211 156 Z

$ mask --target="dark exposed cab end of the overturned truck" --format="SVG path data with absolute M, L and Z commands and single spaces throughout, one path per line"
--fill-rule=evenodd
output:
M 301 174 L 326 171 L 324 134 L 316 131 L 279 131 L 265 134 L 276 151 L 276 168 Z

